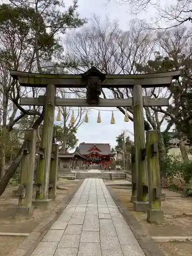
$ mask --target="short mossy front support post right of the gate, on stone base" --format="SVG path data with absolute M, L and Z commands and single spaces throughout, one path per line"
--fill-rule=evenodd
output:
M 146 132 L 146 158 L 148 172 L 147 221 L 160 223 L 164 220 L 161 210 L 161 182 L 158 156 L 158 132 Z

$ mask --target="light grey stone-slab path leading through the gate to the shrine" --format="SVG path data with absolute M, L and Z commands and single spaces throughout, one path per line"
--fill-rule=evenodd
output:
M 86 179 L 31 256 L 144 256 L 102 179 Z

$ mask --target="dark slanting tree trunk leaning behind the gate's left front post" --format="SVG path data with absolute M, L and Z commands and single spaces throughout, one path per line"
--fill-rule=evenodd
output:
M 41 115 L 37 118 L 34 122 L 32 129 L 37 130 L 38 126 L 41 124 L 42 120 L 44 120 L 44 110 L 42 111 Z M 24 142 L 25 143 L 25 142 Z M 23 156 L 23 145 L 20 148 L 19 152 L 17 153 L 15 159 L 11 163 L 10 167 L 8 168 L 6 174 L 4 175 L 3 179 L 0 182 L 0 196 L 4 193 L 11 177 L 13 176 L 15 170 L 19 166 L 20 162 L 22 161 Z

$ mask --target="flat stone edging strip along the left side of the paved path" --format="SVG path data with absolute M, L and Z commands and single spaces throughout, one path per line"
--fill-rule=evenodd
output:
M 70 203 L 73 196 L 77 193 L 77 190 L 82 185 L 84 179 L 79 181 L 75 189 L 68 195 L 65 202 L 60 203 L 59 209 L 56 212 L 50 212 L 50 216 L 47 217 L 43 222 L 37 225 L 30 235 L 20 243 L 16 248 L 12 249 L 8 256 L 30 256 L 34 249 L 37 247 L 38 243 L 44 238 L 44 236 L 49 231 L 53 223 L 59 218 L 63 210 Z

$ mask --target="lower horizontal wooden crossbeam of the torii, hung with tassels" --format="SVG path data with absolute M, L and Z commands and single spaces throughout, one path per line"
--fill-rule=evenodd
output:
M 40 96 L 39 98 L 21 98 L 21 105 L 36 105 L 42 106 L 45 105 L 45 96 Z M 55 99 L 56 106 L 89 106 L 86 99 Z M 133 98 L 129 99 L 100 99 L 99 107 L 113 107 L 113 106 L 132 106 Z M 168 106 L 168 99 L 166 98 L 150 98 L 148 96 L 143 97 L 143 106 Z

